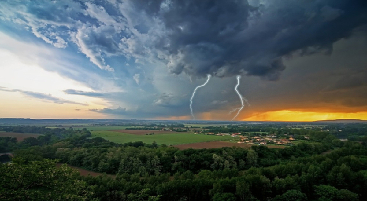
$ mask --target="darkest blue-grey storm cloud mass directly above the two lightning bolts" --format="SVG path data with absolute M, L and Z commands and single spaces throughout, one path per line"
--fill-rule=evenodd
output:
M 160 19 L 155 41 L 170 72 L 218 77 L 246 74 L 277 80 L 282 57 L 331 54 L 333 43 L 367 22 L 366 1 L 133 1 Z M 249 1 L 252 2 L 252 1 Z

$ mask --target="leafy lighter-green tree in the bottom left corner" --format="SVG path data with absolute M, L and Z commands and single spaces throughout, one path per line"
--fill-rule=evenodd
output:
M 21 161 L 21 160 L 18 160 Z M 92 187 L 78 179 L 79 173 L 54 160 L 0 166 L 0 200 L 92 200 Z

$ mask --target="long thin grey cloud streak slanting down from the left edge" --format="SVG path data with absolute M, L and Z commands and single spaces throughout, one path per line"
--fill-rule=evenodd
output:
M 29 96 L 31 98 L 46 100 L 46 101 L 50 101 L 50 102 L 57 103 L 57 104 L 70 103 L 70 104 L 76 104 L 76 105 L 88 105 L 88 104 L 85 104 L 85 103 L 78 103 L 78 102 L 74 102 L 74 101 L 70 101 L 70 100 L 65 100 L 65 99 L 62 99 L 62 98 L 57 98 L 55 96 L 52 96 L 51 94 L 43 94 L 43 93 L 33 92 L 33 91 L 24 91 L 24 90 L 21 90 L 21 89 L 8 89 L 6 87 L 0 87 L 0 91 L 19 92 L 19 93 L 21 93 L 25 96 Z

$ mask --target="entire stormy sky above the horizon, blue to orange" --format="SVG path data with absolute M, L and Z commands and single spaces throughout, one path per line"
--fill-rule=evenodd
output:
M 365 0 L 3 0 L 0 118 L 367 120 L 366 55 Z

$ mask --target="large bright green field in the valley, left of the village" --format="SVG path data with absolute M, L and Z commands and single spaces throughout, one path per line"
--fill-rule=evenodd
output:
M 92 131 L 91 133 L 92 137 L 101 137 L 116 143 L 142 141 L 143 143 L 151 144 L 156 141 L 159 145 L 181 145 L 195 142 L 228 141 L 234 139 L 230 136 L 200 135 L 193 133 L 156 135 L 132 135 L 114 131 Z

